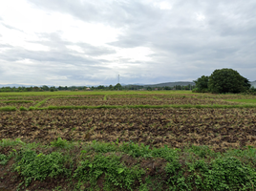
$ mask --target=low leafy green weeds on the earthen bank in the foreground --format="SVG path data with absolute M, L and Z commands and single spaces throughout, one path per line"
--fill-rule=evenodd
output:
M 254 190 L 256 149 L 149 148 L 133 142 L 3 139 L 0 184 L 10 190 Z

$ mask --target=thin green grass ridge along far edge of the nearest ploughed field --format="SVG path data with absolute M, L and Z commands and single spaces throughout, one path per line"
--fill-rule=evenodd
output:
M 49 99 L 49 98 L 47 98 Z M 127 109 L 127 108 L 213 108 L 213 109 L 227 109 L 227 108 L 256 108 L 256 105 L 100 105 L 100 106 L 48 106 L 38 108 L 41 104 L 46 102 L 46 99 L 37 103 L 36 107 L 30 107 L 29 109 L 21 107 L 20 111 L 32 111 L 32 110 L 79 110 L 79 109 Z M 0 107 L 0 111 L 16 111 L 16 107 Z

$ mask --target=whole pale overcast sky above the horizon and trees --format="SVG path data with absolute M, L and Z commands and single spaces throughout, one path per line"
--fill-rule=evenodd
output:
M 255 0 L 0 1 L 0 84 L 256 80 Z

